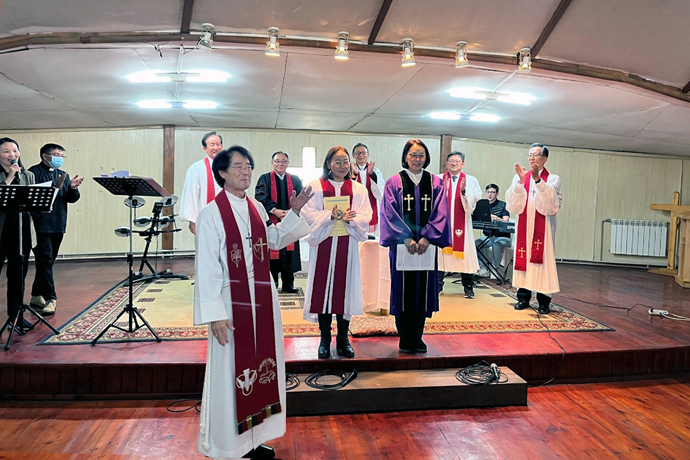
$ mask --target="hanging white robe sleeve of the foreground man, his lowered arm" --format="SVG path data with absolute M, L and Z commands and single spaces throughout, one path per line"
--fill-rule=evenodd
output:
M 199 214 L 196 226 L 196 259 L 194 280 L 194 324 L 208 324 L 212 321 L 229 319 L 221 293 L 226 275 L 223 273 L 224 235 L 220 213 L 215 206 L 207 206 Z

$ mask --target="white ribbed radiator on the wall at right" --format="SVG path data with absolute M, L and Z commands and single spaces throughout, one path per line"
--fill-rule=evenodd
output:
M 668 222 L 611 219 L 611 254 L 666 257 Z

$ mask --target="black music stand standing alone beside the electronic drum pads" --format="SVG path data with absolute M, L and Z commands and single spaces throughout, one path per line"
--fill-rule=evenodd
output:
M 161 187 L 155 180 L 148 177 L 109 177 L 109 176 L 99 176 L 94 177 L 93 180 L 98 182 L 103 188 L 112 193 L 113 195 L 125 195 L 129 197 L 129 202 L 132 204 L 134 195 L 144 195 L 144 196 L 169 196 L 163 187 Z M 105 329 L 101 331 L 98 336 L 91 341 L 91 346 L 96 345 L 96 342 L 103 337 L 103 335 L 108 332 L 111 327 L 119 329 L 122 332 L 132 333 L 136 332 L 142 327 L 146 328 L 153 334 L 156 338 L 156 342 L 160 342 L 161 338 L 156 334 L 151 325 L 144 319 L 144 316 L 134 305 L 134 295 L 132 293 L 132 285 L 134 283 L 134 270 L 132 265 L 134 264 L 134 255 L 132 253 L 132 206 L 129 206 L 129 252 L 127 253 L 127 264 L 129 265 L 129 276 L 128 276 L 128 286 L 129 286 L 129 301 L 127 305 L 122 309 L 119 315 L 106 326 Z M 118 326 L 117 321 L 127 313 L 129 316 L 129 327 L 124 329 Z M 141 320 L 143 324 L 139 324 L 137 318 Z

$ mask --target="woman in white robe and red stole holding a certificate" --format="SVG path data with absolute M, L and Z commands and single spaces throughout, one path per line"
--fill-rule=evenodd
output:
M 323 162 L 323 174 L 311 184 L 314 196 L 302 208 L 311 227 L 309 278 L 304 319 L 319 323 L 319 358 L 331 355 L 331 322 L 338 325 L 336 350 L 353 358 L 347 334 L 352 315 L 362 314 L 359 241 L 367 239 L 371 205 L 367 189 L 350 178 L 350 154 L 339 145 Z

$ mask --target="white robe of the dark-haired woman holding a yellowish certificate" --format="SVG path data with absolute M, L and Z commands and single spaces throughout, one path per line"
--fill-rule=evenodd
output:
M 330 181 L 335 188 L 335 196 L 340 196 L 343 182 Z M 336 220 L 331 220 L 331 211 L 324 209 L 323 189 L 321 179 L 311 182 L 314 196 L 304 205 L 301 214 L 309 223 L 311 233 L 305 241 L 309 243 L 309 276 L 307 279 L 307 292 L 304 297 L 304 319 L 311 322 L 318 322 L 316 313 L 311 313 L 311 295 L 314 288 L 314 275 L 316 273 L 316 256 L 319 252 L 319 243 L 328 238 L 333 230 Z M 328 284 L 326 289 L 326 299 L 331 303 L 333 275 L 335 273 L 335 255 L 338 249 L 338 238 L 350 238 L 347 254 L 347 285 L 345 287 L 345 313 L 343 318 L 350 320 L 352 315 L 362 314 L 362 277 L 359 266 L 359 241 L 367 239 L 369 221 L 371 220 L 371 205 L 369 204 L 369 192 L 367 188 L 357 181 L 352 181 L 352 200 L 350 208 L 357 211 L 357 217 L 349 224 L 345 223 L 348 236 L 333 237 L 331 245 L 331 258 L 328 267 Z M 341 209 L 345 211 L 345 209 Z

